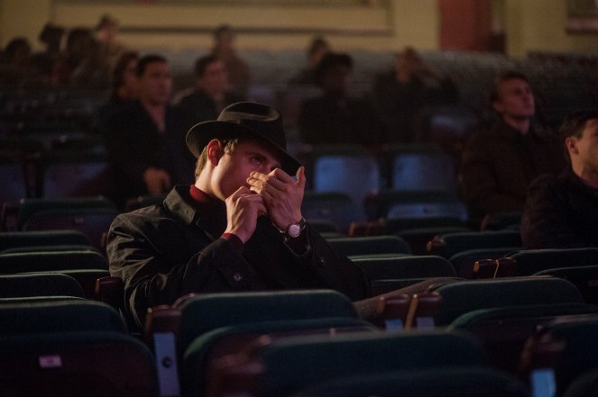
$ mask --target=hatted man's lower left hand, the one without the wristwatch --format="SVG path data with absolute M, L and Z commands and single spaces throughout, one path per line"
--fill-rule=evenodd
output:
M 253 236 L 258 216 L 266 213 L 262 196 L 241 186 L 226 198 L 225 203 L 225 233 L 233 233 L 244 243 L 247 242 Z

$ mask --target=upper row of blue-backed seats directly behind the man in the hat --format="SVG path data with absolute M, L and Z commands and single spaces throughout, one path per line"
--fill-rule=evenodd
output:
M 107 183 L 101 179 L 106 178 L 106 154 L 97 138 L 88 140 L 87 148 L 71 150 L 31 148 L 23 141 L 11 143 L 13 148 L 5 148 L 0 156 L 3 178 L 11 183 L 0 194 L 0 201 L 26 196 L 93 195 L 102 187 L 109 194 L 114 186 L 101 185 Z M 458 192 L 455 158 L 432 145 L 402 145 L 376 153 L 352 146 L 301 146 L 296 151 L 307 166 L 308 190 L 344 193 L 355 203 L 361 204 L 367 194 L 383 190 L 445 192 L 454 196 Z

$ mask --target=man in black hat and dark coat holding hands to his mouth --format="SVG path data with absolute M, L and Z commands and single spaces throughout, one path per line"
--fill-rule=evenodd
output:
M 287 152 L 281 113 L 242 102 L 187 134 L 193 185 L 123 213 L 107 235 L 110 273 L 124 280 L 126 315 L 187 293 L 329 288 L 369 296 L 362 269 L 331 248 L 301 213 L 305 168 Z

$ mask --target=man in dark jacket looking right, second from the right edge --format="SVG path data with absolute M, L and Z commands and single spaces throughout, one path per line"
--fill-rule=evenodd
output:
M 500 120 L 473 134 L 461 164 L 463 196 L 474 220 L 522 211 L 531 181 L 565 166 L 556 134 L 532 125 L 536 107 L 527 77 L 512 71 L 496 77 L 490 101 Z

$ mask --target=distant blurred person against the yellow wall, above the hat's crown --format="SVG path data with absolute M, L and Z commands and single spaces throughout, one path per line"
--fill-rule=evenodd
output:
M 236 53 L 235 32 L 230 26 L 220 25 L 216 28 L 211 54 L 225 63 L 230 90 L 246 96 L 251 86 L 251 71 L 247 62 Z

